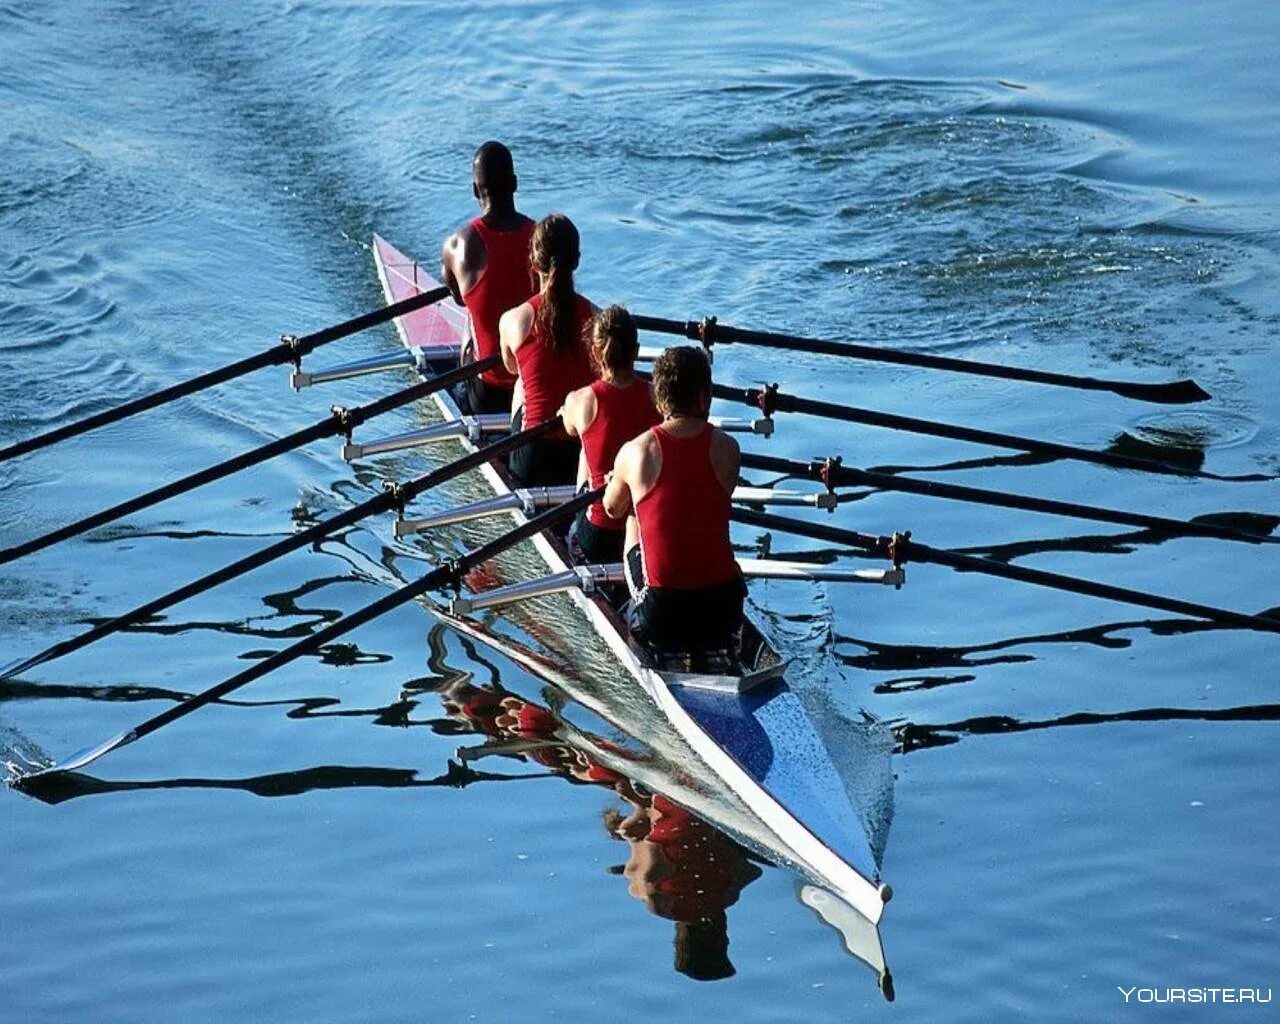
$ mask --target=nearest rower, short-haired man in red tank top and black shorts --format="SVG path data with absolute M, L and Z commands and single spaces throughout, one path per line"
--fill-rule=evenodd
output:
M 653 366 L 663 421 L 618 452 L 604 511 L 627 521 L 632 634 L 659 654 L 731 649 L 746 588 L 728 539 L 737 442 L 707 421 L 712 371 L 701 348 Z

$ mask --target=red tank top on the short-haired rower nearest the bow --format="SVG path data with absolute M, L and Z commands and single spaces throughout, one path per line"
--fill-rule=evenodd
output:
M 728 540 L 730 495 L 712 468 L 712 426 L 691 438 L 653 429 L 662 451 L 658 479 L 639 502 L 645 582 L 696 590 L 737 575 Z

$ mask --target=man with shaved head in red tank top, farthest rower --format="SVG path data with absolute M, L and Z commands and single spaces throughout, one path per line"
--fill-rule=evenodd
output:
M 534 221 L 516 210 L 516 168 L 500 142 L 476 150 L 471 191 L 480 216 L 444 242 L 440 278 L 471 314 L 471 358 L 483 360 L 498 355 L 498 319 L 534 292 L 529 256 Z M 515 374 L 503 366 L 471 378 L 466 385 L 471 412 L 509 412 L 515 385 Z

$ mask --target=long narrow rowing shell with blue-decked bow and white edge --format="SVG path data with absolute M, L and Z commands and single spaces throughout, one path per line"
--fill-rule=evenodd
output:
M 374 237 L 374 260 L 388 302 L 436 287 L 430 274 L 378 236 Z M 413 365 L 424 374 L 457 365 L 460 347 L 468 334 L 466 311 L 451 301 L 411 312 L 398 319 L 396 326 L 406 349 L 415 356 Z M 445 426 L 467 424 L 468 429 L 453 431 L 452 436 L 474 449 L 484 424 L 466 417 L 447 392 L 438 392 L 433 401 Z M 480 472 L 493 495 L 515 492 L 500 463 L 486 463 Z M 525 518 L 518 508 L 509 515 L 518 521 Z M 573 572 L 568 553 L 557 538 L 541 534 L 531 545 L 541 572 L 552 576 Z M 675 753 L 682 773 L 694 781 L 659 780 L 658 788 L 815 882 L 819 888 L 806 887 L 803 899 L 827 920 L 840 916 L 838 906 L 829 900 L 835 896 L 868 923 L 877 923 L 890 890 L 879 881 L 865 828 L 847 799 L 829 753 L 786 684 L 781 657 L 754 618 L 749 616 L 744 623 L 744 650 L 754 650 L 748 669 L 762 673 L 768 681 L 745 692 L 724 691 L 682 685 L 685 680 L 678 673 L 663 673 L 646 664 L 627 643 L 625 623 L 599 594 L 571 589 L 557 598 L 570 600 L 579 617 L 577 630 L 571 622 L 557 623 L 562 634 L 568 626 L 570 635 L 562 636 L 562 644 L 567 639 L 573 655 L 586 657 L 595 671 L 611 676 L 608 685 L 584 689 L 563 664 L 557 664 L 557 659 L 509 639 L 494 628 L 494 623 L 439 608 L 434 611 L 462 632 L 564 689 L 575 700 L 632 736 L 646 742 L 660 741 L 654 728 L 659 723 L 668 724 L 684 750 L 668 749 L 666 753 Z M 556 617 L 563 616 L 559 611 Z M 602 643 L 586 639 L 582 620 Z M 541 635 L 545 636 L 545 631 Z M 602 644 L 608 658 L 599 658 Z M 595 650 L 588 652 L 589 648 Z M 608 759 L 607 751 L 600 753 Z M 634 772 L 636 765 L 618 767 Z M 717 799 L 709 801 L 708 792 L 716 790 Z M 876 959 L 882 966 L 882 959 Z

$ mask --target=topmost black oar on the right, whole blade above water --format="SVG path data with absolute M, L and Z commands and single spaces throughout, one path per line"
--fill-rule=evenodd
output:
M 708 347 L 718 343 L 737 342 L 740 344 L 763 346 L 764 348 L 782 348 L 791 352 L 819 352 L 824 356 L 870 360 L 873 362 L 896 362 L 904 366 L 924 366 L 929 370 L 950 370 L 957 374 L 997 376 L 1006 380 L 1028 380 L 1033 384 L 1053 384 L 1060 388 L 1111 392 L 1124 398 L 1137 398 L 1142 402 L 1161 402 L 1165 404 L 1203 402 L 1206 398 L 1210 398 L 1208 392 L 1189 379 L 1158 383 L 1101 380 L 1094 376 L 1055 374 L 1048 370 L 1029 370 L 1021 366 L 959 360 L 951 356 L 931 356 L 925 352 L 909 352 L 900 348 L 881 348 L 879 346 L 854 344 L 850 342 L 828 342 L 820 338 L 801 338 L 795 334 L 776 334 L 769 330 L 744 330 L 742 328 L 717 323 L 714 317 L 700 321 L 664 320 L 660 316 L 635 316 L 632 319 L 640 330 L 676 334 L 681 338 L 701 342 Z

